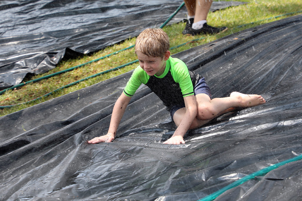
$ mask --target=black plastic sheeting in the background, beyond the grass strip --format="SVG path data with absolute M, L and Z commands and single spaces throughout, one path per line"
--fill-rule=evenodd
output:
M 182 0 L 0 1 L 0 90 L 65 59 L 160 27 Z M 213 2 L 211 11 L 243 2 Z M 172 22 L 186 18 L 185 6 Z

